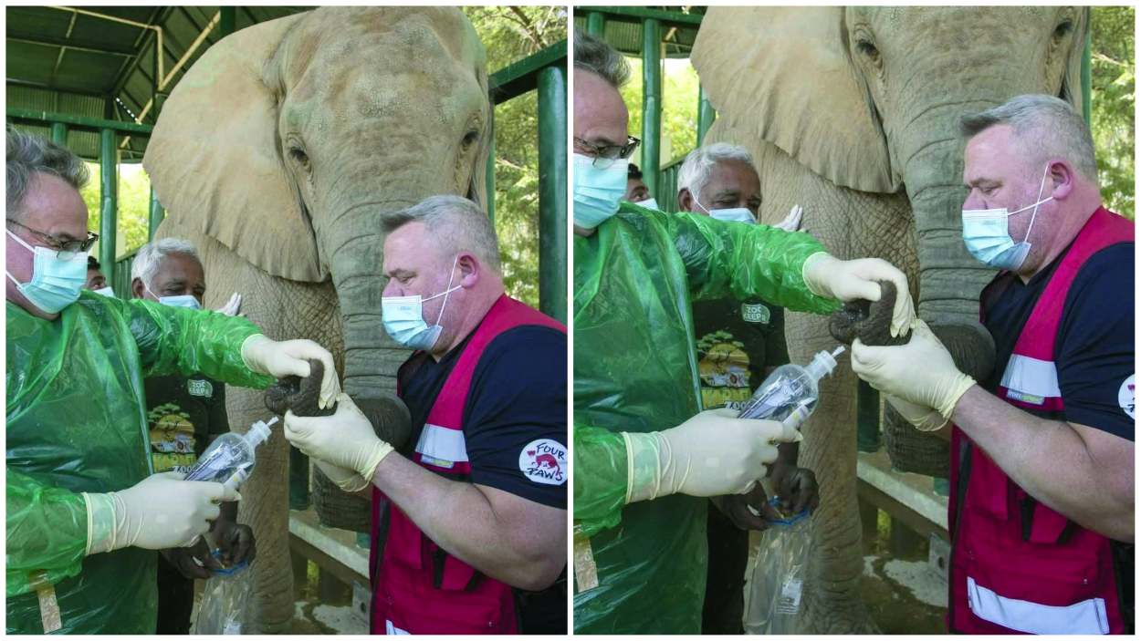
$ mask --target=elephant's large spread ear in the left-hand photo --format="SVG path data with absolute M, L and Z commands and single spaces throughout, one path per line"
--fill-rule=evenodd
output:
M 268 68 L 308 14 L 243 29 L 211 47 L 175 87 L 143 167 L 168 216 L 274 276 L 322 282 L 327 270 L 281 157 L 278 83 Z

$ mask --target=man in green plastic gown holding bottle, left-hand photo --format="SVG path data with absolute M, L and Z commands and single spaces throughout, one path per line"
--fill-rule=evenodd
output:
M 330 354 L 244 318 L 121 301 L 87 281 L 83 163 L 7 132 L 7 632 L 155 631 L 156 550 L 191 546 L 232 487 L 152 474 L 143 379 L 204 374 L 266 387 Z

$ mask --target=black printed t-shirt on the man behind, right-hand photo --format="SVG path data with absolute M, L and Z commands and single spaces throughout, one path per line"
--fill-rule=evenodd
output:
M 702 407 L 739 409 L 764 381 L 764 368 L 788 363 L 784 309 L 760 300 L 694 301 Z

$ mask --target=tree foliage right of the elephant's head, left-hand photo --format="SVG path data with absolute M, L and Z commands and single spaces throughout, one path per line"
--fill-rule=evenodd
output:
M 545 49 L 567 36 L 565 7 L 466 7 L 487 50 L 487 70 Z M 495 232 L 503 284 L 539 307 L 539 96 L 531 91 L 495 107 Z

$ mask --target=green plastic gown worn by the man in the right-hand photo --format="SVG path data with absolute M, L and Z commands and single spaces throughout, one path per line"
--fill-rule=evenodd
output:
M 576 633 L 701 632 L 709 500 L 625 505 L 620 432 L 666 430 L 702 409 L 690 301 L 839 309 L 801 276 L 820 251 L 808 234 L 630 203 L 593 235 L 575 236 L 574 518 L 597 571 L 597 586 L 583 589 L 575 561 Z

